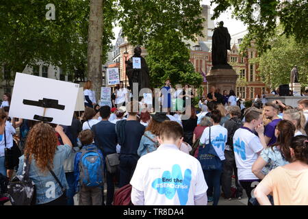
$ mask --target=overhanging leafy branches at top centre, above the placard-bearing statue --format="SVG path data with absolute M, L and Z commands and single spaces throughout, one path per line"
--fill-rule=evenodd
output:
M 123 35 L 134 45 L 164 40 L 168 31 L 196 40 L 202 34 L 201 11 L 199 0 L 119 0 Z

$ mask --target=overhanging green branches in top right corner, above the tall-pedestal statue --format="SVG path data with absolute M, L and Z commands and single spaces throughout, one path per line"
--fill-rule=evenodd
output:
M 211 0 L 218 6 L 214 8 L 213 19 L 228 10 L 233 16 L 248 25 L 248 35 L 242 42 L 242 51 L 255 40 L 259 53 L 271 47 L 269 43 L 279 22 L 283 34 L 294 36 L 296 42 L 307 44 L 308 38 L 308 1 L 307 0 Z

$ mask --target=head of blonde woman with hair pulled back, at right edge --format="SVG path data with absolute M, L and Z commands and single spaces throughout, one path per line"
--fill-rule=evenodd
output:
M 305 136 L 306 119 L 301 110 L 292 109 L 283 111 L 283 120 L 289 120 L 296 128 L 294 136 Z

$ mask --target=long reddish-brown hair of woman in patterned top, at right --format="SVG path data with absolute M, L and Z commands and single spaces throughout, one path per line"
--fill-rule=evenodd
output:
M 289 120 L 281 120 L 276 127 L 279 131 L 279 136 L 275 144 L 270 145 L 272 148 L 274 146 L 279 146 L 280 152 L 285 157 L 285 159 L 290 155 L 290 145 L 291 140 L 294 137 L 295 126 Z

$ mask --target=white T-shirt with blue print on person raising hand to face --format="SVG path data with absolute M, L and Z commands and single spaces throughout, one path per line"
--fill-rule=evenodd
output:
M 260 139 L 247 129 L 240 128 L 233 136 L 235 163 L 238 168 L 239 180 L 258 179 L 251 168 L 259 157 L 257 153 L 264 149 Z

